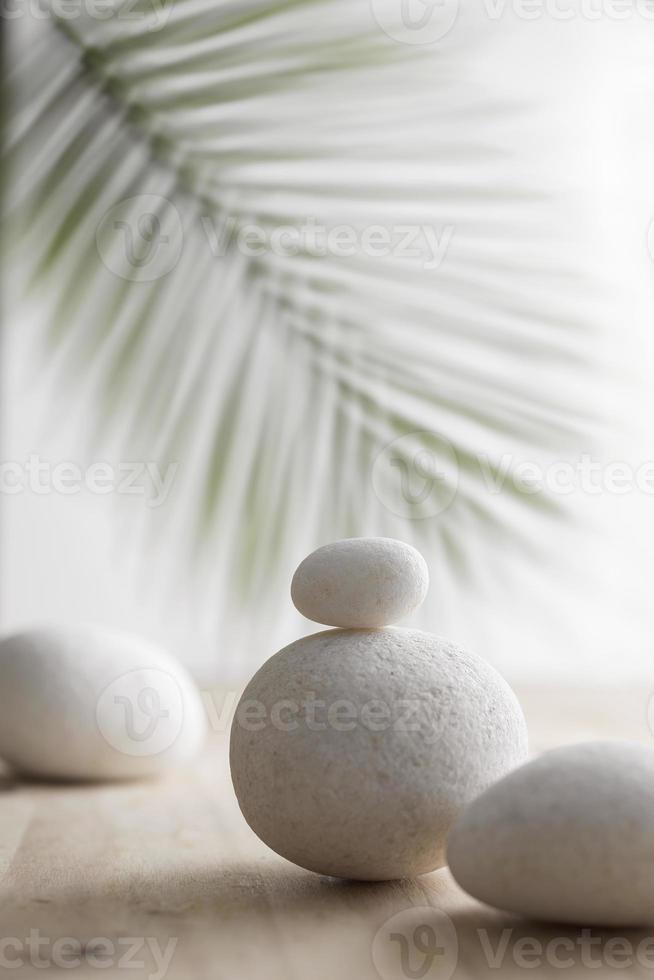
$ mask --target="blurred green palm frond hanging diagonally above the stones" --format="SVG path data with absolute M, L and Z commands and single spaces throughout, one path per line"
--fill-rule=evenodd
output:
M 511 482 L 490 494 L 478 454 L 497 476 L 504 453 L 563 451 L 590 424 L 584 393 L 551 379 L 592 359 L 595 311 L 576 300 L 574 216 L 511 156 L 529 107 L 489 100 L 474 30 L 462 58 L 456 32 L 397 44 L 352 0 L 130 9 L 143 17 L 52 18 L 19 45 L 9 237 L 67 377 L 95 385 L 103 436 L 181 461 L 197 567 L 249 600 L 338 536 L 394 534 L 468 575 L 481 535 L 524 541 L 523 513 L 555 502 Z M 97 246 L 121 202 L 138 226 L 144 196 L 183 244 L 151 281 Z M 235 245 L 251 223 L 307 219 L 452 238 L 437 268 Z M 437 519 L 375 493 L 375 460 L 402 436 L 407 465 L 421 447 L 438 459 L 439 436 L 455 450 Z

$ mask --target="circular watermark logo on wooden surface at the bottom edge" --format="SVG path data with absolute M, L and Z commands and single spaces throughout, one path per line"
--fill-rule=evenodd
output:
M 431 906 L 398 912 L 372 943 L 372 962 L 382 980 L 450 980 L 458 960 L 454 923 Z

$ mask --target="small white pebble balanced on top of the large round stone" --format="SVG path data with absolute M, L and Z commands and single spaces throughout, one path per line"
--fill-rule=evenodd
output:
M 316 623 L 373 629 L 404 619 L 428 588 L 427 564 L 411 545 L 394 538 L 346 538 L 301 562 L 291 597 Z

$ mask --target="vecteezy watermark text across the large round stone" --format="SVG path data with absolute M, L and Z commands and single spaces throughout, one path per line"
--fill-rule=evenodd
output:
M 351 698 L 327 701 L 316 697 L 314 691 L 306 691 L 300 697 L 280 698 L 270 705 L 257 698 L 246 698 L 239 703 L 234 717 L 235 723 L 249 732 L 272 728 L 293 735 L 301 728 L 344 733 L 366 729 L 374 733 L 391 732 L 393 736 L 414 735 L 427 745 L 434 745 L 446 728 L 448 706 L 441 704 L 436 710 L 433 700 L 426 698 L 371 698 L 363 703 Z

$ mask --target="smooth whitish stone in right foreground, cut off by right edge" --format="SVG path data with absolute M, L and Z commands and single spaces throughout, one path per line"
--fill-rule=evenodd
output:
M 654 748 L 547 752 L 470 805 L 448 859 L 488 905 L 575 925 L 654 925 Z

